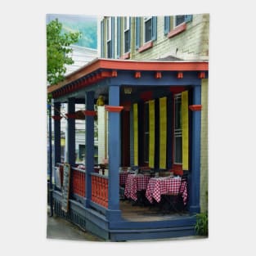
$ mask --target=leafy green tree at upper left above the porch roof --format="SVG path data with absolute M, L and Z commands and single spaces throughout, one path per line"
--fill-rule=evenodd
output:
M 62 33 L 62 24 L 52 20 L 47 25 L 47 82 L 59 83 L 64 79 L 65 65 L 74 63 L 69 56 L 70 44 L 78 42 L 81 33 Z

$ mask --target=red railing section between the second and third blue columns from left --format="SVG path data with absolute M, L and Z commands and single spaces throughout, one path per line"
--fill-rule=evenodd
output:
M 85 197 L 85 171 L 71 167 L 71 188 L 76 195 Z

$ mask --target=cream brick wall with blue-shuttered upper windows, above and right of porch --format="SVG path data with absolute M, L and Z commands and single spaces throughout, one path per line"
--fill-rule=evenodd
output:
M 209 14 L 101 16 L 99 56 L 137 61 L 209 61 Z M 202 80 L 201 211 L 208 209 L 208 79 Z

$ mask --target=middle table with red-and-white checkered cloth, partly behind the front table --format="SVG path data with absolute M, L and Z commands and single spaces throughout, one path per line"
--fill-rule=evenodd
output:
M 145 176 L 142 174 L 128 174 L 124 195 L 127 198 L 131 198 L 132 200 L 137 200 L 137 191 L 146 191 L 147 184 L 150 180 L 149 176 Z

